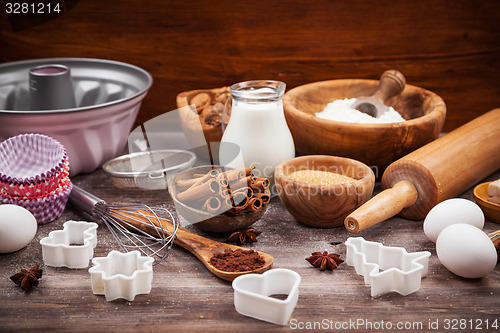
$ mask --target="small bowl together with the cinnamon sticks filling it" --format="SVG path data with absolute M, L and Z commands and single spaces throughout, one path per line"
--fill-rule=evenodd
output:
M 252 168 L 247 169 L 250 170 L 205 165 L 181 171 L 168 187 L 175 209 L 201 230 L 227 233 L 248 228 L 264 215 L 271 197 L 267 178 L 253 177 L 267 180 L 267 185 L 261 188 L 255 183 L 247 184 Z M 238 185 L 236 178 L 225 177 L 238 171 L 241 174 L 237 179 L 245 185 L 241 182 Z M 231 194 L 226 196 L 227 192 Z

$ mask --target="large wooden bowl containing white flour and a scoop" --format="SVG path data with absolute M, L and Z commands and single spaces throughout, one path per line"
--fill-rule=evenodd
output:
M 443 99 L 411 85 L 388 100 L 405 122 L 356 124 L 315 116 L 334 100 L 370 96 L 377 88 L 377 80 L 331 80 L 288 91 L 284 97 L 285 117 L 297 153 L 353 158 L 376 167 L 379 177 L 390 163 L 439 136 L 446 116 Z

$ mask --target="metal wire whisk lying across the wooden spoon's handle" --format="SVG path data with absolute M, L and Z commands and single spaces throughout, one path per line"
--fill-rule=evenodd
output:
M 178 220 L 166 208 L 108 204 L 78 186 L 73 186 L 69 200 L 103 221 L 125 252 L 139 250 L 156 260 L 168 255 L 179 228 Z

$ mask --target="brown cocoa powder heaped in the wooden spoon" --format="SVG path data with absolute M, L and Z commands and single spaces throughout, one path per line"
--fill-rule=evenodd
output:
M 261 268 L 265 264 L 264 258 L 254 250 L 231 250 L 215 253 L 210 263 L 221 271 L 244 272 Z

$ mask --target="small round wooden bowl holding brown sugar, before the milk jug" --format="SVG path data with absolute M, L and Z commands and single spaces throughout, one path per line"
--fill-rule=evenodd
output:
M 294 180 L 297 170 L 323 170 L 352 177 L 356 181 L 315 185 Z M 300 222 L 319 228 L 344 225 L 344 219 L 370 199 L 375 175 L 365 164 L 344 157 L 311 155 L 283 162 L 274 171 L 276 189 L 288 211 Z

